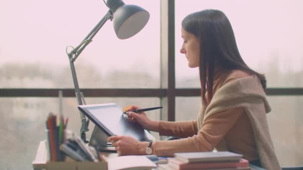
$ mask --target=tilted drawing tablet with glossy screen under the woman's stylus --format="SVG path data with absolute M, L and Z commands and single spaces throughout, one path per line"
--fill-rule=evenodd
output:
M 139 141 L 155 141 L 137 122 L 130 122 L 115 103 L 79 105 L 78 108 L 107 136 L 130 135 Z

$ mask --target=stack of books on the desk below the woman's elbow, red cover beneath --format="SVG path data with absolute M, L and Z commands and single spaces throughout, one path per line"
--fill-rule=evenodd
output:
M 164 170 L 250 170 L 249 162 L 243 155 L 232 152 L 175 153 Z

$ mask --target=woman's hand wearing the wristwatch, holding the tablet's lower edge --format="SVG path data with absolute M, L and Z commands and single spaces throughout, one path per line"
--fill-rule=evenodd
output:
M 119 155 L 146 155 L 148 142 L 140 142 L 131 136 L 111 136 L 107 138 L 112 142 Z

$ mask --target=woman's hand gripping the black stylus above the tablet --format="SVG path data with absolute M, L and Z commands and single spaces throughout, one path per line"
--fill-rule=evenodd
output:
M 141 109 L 141 108 L 138 106 L 135 106 L 135 105 L 130 105 L 130 106 L 128 106 L 128 108 L 125 111 L 138 110 L 138 109 Z M 130 119 L 130 121 L 138 122 L 144 129 L 151 130 L 154 132 L 159 131 L 159 122 L 150 120 L 148 118 L 148 116 L 145 114 L 145 112 L 139 112 L 139 113 L 127 112 L 126 114 L 128 115 L 128 118 Z

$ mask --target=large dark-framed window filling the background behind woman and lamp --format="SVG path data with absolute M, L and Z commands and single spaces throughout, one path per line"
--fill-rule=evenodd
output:
M 65 48 L 79 45 L 108 8 L 103 0 L 13 2 L 0 2 L 0 155 L 6 156 L 0 159 L 0 169 L 30 170 L 39 141 L 46 139 L 46 116 L 60 110 L 58 90 L 63 90 L 61 104 L 69 117 L 68 129 L 79 133 L 81 122 Z M 179 53 L 180 29 L 187 14 L 206 8 L 226 13 L 243 59 L 266 74 L 269 87 L 303 87 L 300 0 L 124 2 L 147 9 L 150 21 L 134 37 L 119 40 L 108 20 L 75 61 L 87 104 L 162 105 L 161 110 L 147 112 L 148 116 L 196 119 L 201 102 L 198 69 L 188 68 Z M 274 90 L 275 95 L 289 94 L 289 89 Z M 303 88 L 292 94 L 297 95 L 296 91 L 303 94 Z M 302 165 L 302 96 L 280 95 L 269 96 L 268 122 L 276 152 L 283 166 Z M 87 139 L 92 122 L 89 129 Z

